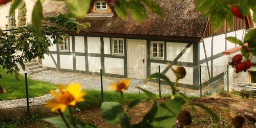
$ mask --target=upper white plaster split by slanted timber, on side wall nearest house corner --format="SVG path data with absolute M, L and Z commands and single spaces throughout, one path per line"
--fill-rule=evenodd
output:
M 204 46 L 207 57 L 211 56 L 211 37 L 204 38 Z M 202 46 L 202 47 L 201 47 Z M 203 44 L 200 46 L 200 60 L 205 59 Z

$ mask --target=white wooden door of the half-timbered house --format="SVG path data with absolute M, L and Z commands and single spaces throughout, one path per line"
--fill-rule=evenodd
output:
M 146 79 L 146 40 L 127 39 L 128 78 Z

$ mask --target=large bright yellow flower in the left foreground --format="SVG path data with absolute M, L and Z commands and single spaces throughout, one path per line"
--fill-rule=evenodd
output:
M 51 94 L 56 99 L 48 100 L 46 107 L 51 108 L 51 111 L 54 112 L 59 110 L 64 112 L 68 106 L 74 106 L 77 102 L 84 101 L 83 96 L 86 95 L 86 92 L 81 91 L 80 83 L 71 83 L 69 86 L 66 84 L 65 90 L 62 89 L 62 85 L 58 84 L 59 93 L 51 90 Z

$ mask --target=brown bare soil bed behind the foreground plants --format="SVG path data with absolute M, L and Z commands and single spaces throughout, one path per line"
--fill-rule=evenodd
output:
M 161 103 L 163 101 L 169 100 L 168 97 L 158 99 L 157 102 Z M 223 112 L 224 109 L 228 110 L 230 115 L 232 117 L 236 115 L 242 115 L 244 116 L 245 113 L 252 114 L 252 116 L 256 116 L 256 100 L 255 99 L 239 99 L 239 98 L 231 98 L 227 95 L 216 95 L 211 97 L 205 97 L 205 98 L 195 98 L 191 99 L 191 101 L 195 103 L 200 103 L 203 105 L 208 106 L 210 109 L 215 111 L 219 117 L 220 117 L 220 126 L 224 127 L 229 124 L 229 121 L 225 118 L 225 114 Z M 126 107 L 126 104 L 124 104 L 124 108 Z M 150 101 L 145 101 L 137 106 L 135 106 L 128 115 L 131 117 L 131 123 L 139 123 L 142 121 L 144 115 L 150 111 L 152 107 L 152 104 Z M 188 106 L 184 107 L 185 110 L 189 110 Z M 204 111 L 199 108 L 196 108 L 195 112 L 191 112 L 193 116 L 193 123 L 190 124 L 190 127 L 213 127 L 214 122 L 211 120 L 210 116 Z M 120 125 L 115 126 L 113 124 L 110 124 L 106 121 L 104 121 L 101 118 L 100 114 L 100 108 L 93 108 L 88 109 L 81 112 L 76 112 L 75 116 L 83 120 L 84 122 L 90 122 L 97 127 L 120 127 Z M 244 127 L 256 127 L 255 120 L 248 120 L 246 118 L 246 122 Z M 46 122 L 40 121 L 39 123 L 34 124 L 26 124 L 20 127 L 41 127 L 41 126 L 47 126 L 52 127 L 51 124 L 48 124 Z M 175 125 L 174 127 L 179 127 L 179 125 Z

